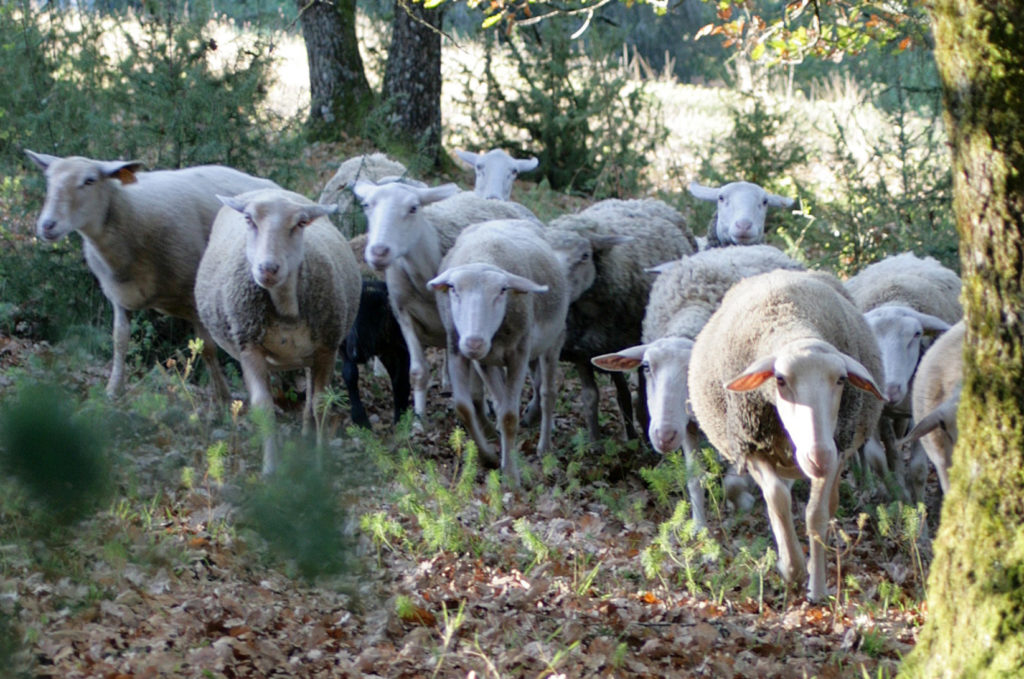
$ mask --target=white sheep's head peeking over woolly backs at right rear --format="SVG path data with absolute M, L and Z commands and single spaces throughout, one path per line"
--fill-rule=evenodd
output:
M 691 181 L 689 188 L 697 200 L 718 204 L 701 249 L 764 243 L 768 208 L 788 208 L 794 203 L 792 198 L 769 194 L 749 181 L 733 181 L 719 188 Z

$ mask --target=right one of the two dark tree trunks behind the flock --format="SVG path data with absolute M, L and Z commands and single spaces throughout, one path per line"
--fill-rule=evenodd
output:
M 387 127 L 411 154 L 440 164 L 441 4 L 396 0 L 382 99 Z

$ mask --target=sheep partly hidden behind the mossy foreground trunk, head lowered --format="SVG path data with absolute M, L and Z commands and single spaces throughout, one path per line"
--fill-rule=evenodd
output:
M 904 444 L 921 439 L 938 472 L 943 495 L 949 492 L 949 466 L 956 444 L 965 332 L 961 321 L 943 333 L 921 359 L 911 397 L 915 424 L 904 439 Z

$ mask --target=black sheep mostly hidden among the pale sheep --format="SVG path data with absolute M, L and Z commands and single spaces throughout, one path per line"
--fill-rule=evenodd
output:
M 409 410 L 409 347 L 391 312 L 387 286 L 383 281 L 364 278 L 355 323 L 341 343 L 341 376 L 348 391 L 352 422 L 366 429 L 371 426 L 359 395 L 358 364 L 375 356 L 380 358 L 391 379 L 394 421 L 398 422 Z

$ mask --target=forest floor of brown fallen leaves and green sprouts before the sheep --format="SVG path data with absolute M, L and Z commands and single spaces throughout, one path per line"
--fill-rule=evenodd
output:
M 848 471 L 834 596 L 809 603 L 773 567 L 760 497 L 738 512 L 712 479 L 710 532 L 691 531 L 680 460 L 625 441 L 609 386 L 592 449 L 563 377 L 556 450 L 540 459 L 521 431 L 511 491 L 452 436 L 436 387 L 411 433 L 364 370 L 374 432 L 348 429 L 342 398 L 324 472 L 264 481 L 248 418 L 211 418 L 185 365 L 136 372 L 110 402 L 102 359 L 0 337 L 0 395 L 58 379 L 101 425 L 114 481 L 97 511 L 55 524 L 0 479 L 0 675 L 889 677 L 924 622 L 913 512 Z

